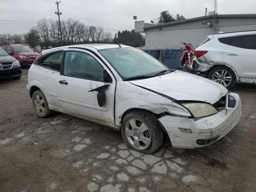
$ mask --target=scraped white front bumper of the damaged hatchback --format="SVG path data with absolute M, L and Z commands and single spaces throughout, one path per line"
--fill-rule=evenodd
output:
M 242 115 L 242 103 L 238 94 L 233 109 L 221 110 L 218 113 L 199 120 L 185 119 L 174 116 L 164 116 L 159 121 L 166 129 L 173 147 L 201 148 L 208 146 L 232 130 Z M 190 129 L 192 133 L 181 132 L 179 128 Z M 202 144 L 202 142 L 207 144 Z M 198 144 L 200 143 L 200 144 Z

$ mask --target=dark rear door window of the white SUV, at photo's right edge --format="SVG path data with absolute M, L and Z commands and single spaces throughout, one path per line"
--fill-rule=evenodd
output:
M 236 47 L 256 49 L 256 35 L 241 35 L 236 40 Z

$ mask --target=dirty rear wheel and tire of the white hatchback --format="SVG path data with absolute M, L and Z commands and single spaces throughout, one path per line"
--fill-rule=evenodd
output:
M 51 110 L 48 107 L 48 102 L 41 90 L 36 90 L 32 95 L 32 104 L 36 114 L 42 118 L 50 116 Z

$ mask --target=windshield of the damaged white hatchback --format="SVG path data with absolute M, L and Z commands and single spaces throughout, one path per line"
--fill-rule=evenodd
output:
M 108 60 L 123 80 L 153 77 L 170 71 L 160 61 L 136 48 L 112 48 L 98 52 Z

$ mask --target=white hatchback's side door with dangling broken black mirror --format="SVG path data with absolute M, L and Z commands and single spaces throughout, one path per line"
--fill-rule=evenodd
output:
M 95 90 L 106 85 L 104 69 L 112 82 L 104 91 L 106 102 L 99 104 Z M 68 49 L 64 52 L 62 70 L 57 82 L 57 98 L 67 114 L 95 122 L 114 125 L 114 76 L 94 54 L 87 50 Z M 100 106 L 101 105 L 101 106 Z

